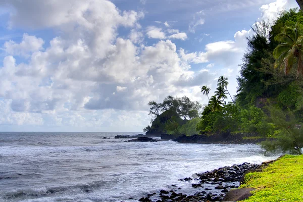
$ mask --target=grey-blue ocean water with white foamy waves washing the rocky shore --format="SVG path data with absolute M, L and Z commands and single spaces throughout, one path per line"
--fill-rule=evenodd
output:
M 171 184 L 190 193 L 179 178 L 277 158 L 258 145 L 114 139 L 122 134 L 138 132 L 0 133 L 0 201 L 137 201 Z

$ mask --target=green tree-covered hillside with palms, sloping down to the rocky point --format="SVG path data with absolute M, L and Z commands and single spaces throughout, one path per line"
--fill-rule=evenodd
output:
M 221 76 L 215 95 L 209 97 L 210 88 L 201 88 L 201 96 L 207 95 L 209 103 L 198 118 L 198 104 L 191 105 L 189 109 L 180 98 L 169 96 L 162 104 L 149 103 L 150 112 L 153 114 L 153 110 L 162 109 L 167 113 L 168 108 L 163 106 L 168 102 L 171 103 L 168 106 L 175 106 L 169 108 L 175 115 L 162 122 L 156 118 L 145 130 L 153 131 L 160 124 L 161 131 L 158 132 L 163 133 L 192 135 L 187 133 L 191 131 L 208 136 L 226 134 L 243 139 L 268 139 L 263 142 L 268 150 L 282 149 L 301 154 L 303 13 L 295 9 L 284 11 L 274 23 L 258 22 L 252 29 L 255 34 L 247 38 L 247 51 L 240 64 L 238 89 L 233 102 L 225 102 L 229 96 L 228 78 Z M 182 105 L 187 109 L 185 116 L 181 113 Z M 194 116 L 189 116 L 190 110 Z M 161 113 L 156 115 L 159 116 Z M 182 117 L 185 122 L 181 121 Z M 192 120 L 187 121 L 186 117 Z

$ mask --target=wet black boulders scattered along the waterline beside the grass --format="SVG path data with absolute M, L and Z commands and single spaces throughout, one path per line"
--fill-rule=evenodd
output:
M 179 179 L 188 182 L 195 189 L 194 194 L 182 192 L 181 187 L 174 184 L 158 192 L 147 194 L 138 199 L 143 202 L 189 202 L 189 201 L 236 201 L 250 196 L 252 189 L 238 188 L 246 173 L 256 171 L 260 164 L 243 163 L 241 165 L 225 166 L 212 171 L 194 174 L 194 177 Z M 133 198 L 130 198 L 133 199 Z

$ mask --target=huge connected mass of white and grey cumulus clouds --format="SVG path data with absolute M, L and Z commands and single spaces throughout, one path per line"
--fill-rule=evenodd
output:
M 110 1 L 0 1 L 8 4 L 13 8 L 10 28 L 53 29 L 56 36 L 44 41 L 24 34 L 20 42 L 4 43 L 0 125 L 141 128 L 149 121 L 148 100 L 172 94 L 206 101 L 200 87 L 215 86 L 221 74 L 236 75 L 245 37 L 251 34 L 242 30 L 233 40 L 208 43 L 191 53 L 171 41 L 185 40 L 185 32 L 141 29 L 142 13 L 120 11 Z M 197 18 L 192 27 L 203 23 Z M 122 27 L 124 36 L 119 35 Z M 144 31 L 160 40 L 147 45 Z M 27 60 L 20 61 L 19 56 Z M 216 68 L 224 68 L 191 69 L 191 64 L 207 63 L 210 68 L 214 62 Z

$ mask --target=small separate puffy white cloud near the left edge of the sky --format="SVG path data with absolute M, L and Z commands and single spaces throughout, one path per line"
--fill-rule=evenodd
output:
M 30 36 L 23 34 L 22 41 L 16 43 L 15 41 L 6 41 L 4 43 L 4 49 L 7 54 L 15 56 L 29 57 L 30 54 L 41 51 L 43 49 L 44 41 L 42 38 L 36 36 Z

